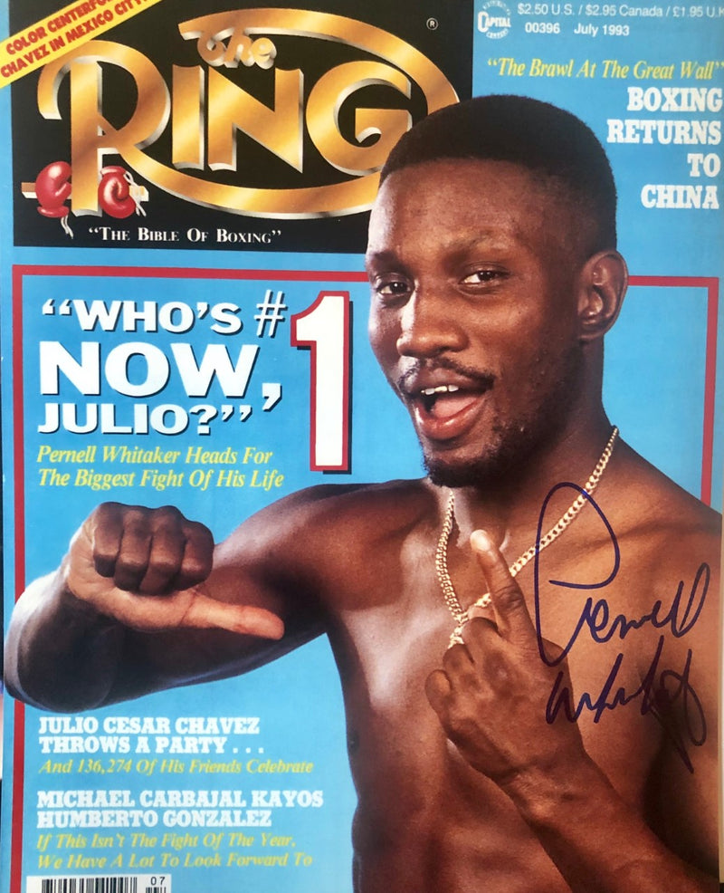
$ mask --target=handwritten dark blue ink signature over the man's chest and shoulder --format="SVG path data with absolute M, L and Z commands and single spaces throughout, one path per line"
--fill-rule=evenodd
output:
M 553 487 L 541 507 L 538 518 L 537 552 L 534 566 L 536 635 L 538 638 L 538 651 L 542 660 L 548 664 L 548 667 L 555 667 L 560 664 L 576 644 L 576 639 L 578 639 L 578 636 L 584 629 L 587 630 L 591 639 L 599 644 L 609 642 L 614 637 L 623 640 L 632 629 L 641 629 L 647 624 L 653 629 L 667 630 L 676 639 L 681 639 L 681 637 L 685 636 L 699 620 L 707 592 L 709 591 L 711 574 L 710 567 L 706 563 L 700 564 L 694 575 L 691 590 L 688 593 L 686 593 L 684 582 L 680 581 L 668 609 L 663 607 L 662 600 L 657 599 L 654 601 L 651 610 L 638 618 L 628 618 L 624 614 L 614 614 L 605 599 L 595 600 L 594 597 L 589 596 L 566 645 L 562 647 L 561 652 L 557 653 L 555 657 L 548 654 L 546 641 L 541 632 L 539 546 L 544 534 L 543 525 L 545 523 L 548 502 L 562 487 L 571 487 L 577 490 L 598 513 L 610 537 L 613 562 L 610 573 L 603 581 L 572 583 L 551 580 L 548 582 L 554 586 L 566 587 L 568 589 L 603 589 L 614 580 L 621 563 L 621 554 L 614 530 L 593 496 L 586 494 L 586 491 L 576 484 L 562 483 Z M 577 703 L 567 682 L 567 673 L 561 670 L 548 698 L 546 721 L 553 723 L 557 715 L 562 712 L 570 722 L 576 722 L 583 711 L 588 710 L 593 713 L 594 722 L 598 723 L 602 716 L 605 715 L 606 710 L 614 710 L 618 706 L 625 706 L 639 699 L 641 702 L 641 714 L 653 715 L 662 725 L 664 732 L 666 735 L 669 735 L 673 746 L 681 755 L 681 759 L 687 769 L 692 773 L 694 769 L 687 751 L 687 744 L 695 746 L 704 744 L 707 739 L 706 717 L 700 698 L 690 681 L 691 648 L 687 651 L 681 672 L 662 668 L 660 667 L 660 662 L 665 640 L 666 637 L 664 635 L 659 637 L 653 658 L 648 669 L 643 674 L 641 684 L 633 690 L 627 691 L 624 686 L 617 684 L 616 681 L 624 660 L 624 654 L 621 652 L 614 659 L 611 671 L 605 678 L 600 692 L 595 696 L 587 691 L 582 692 L 577 698 Z M 681 728 L 676 727 L 672 723 L 672 707 L 676 705 L 679 706 Z

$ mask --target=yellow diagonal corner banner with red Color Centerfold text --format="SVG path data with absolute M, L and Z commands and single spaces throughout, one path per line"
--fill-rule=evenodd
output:
M 24 28 L 0 45 L 0 87 L 88 43 L 161 0 L 81 0 Z

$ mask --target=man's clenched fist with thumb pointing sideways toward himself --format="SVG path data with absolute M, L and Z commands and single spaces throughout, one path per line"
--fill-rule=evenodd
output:
M 207 594 L 214 539 L 173 506 L 101 504 L 83 523 L 63 562 L 78 600 L 144 632 L 190 627 L 230 629 L 281 639 L 281 619 L 262 608 Z

